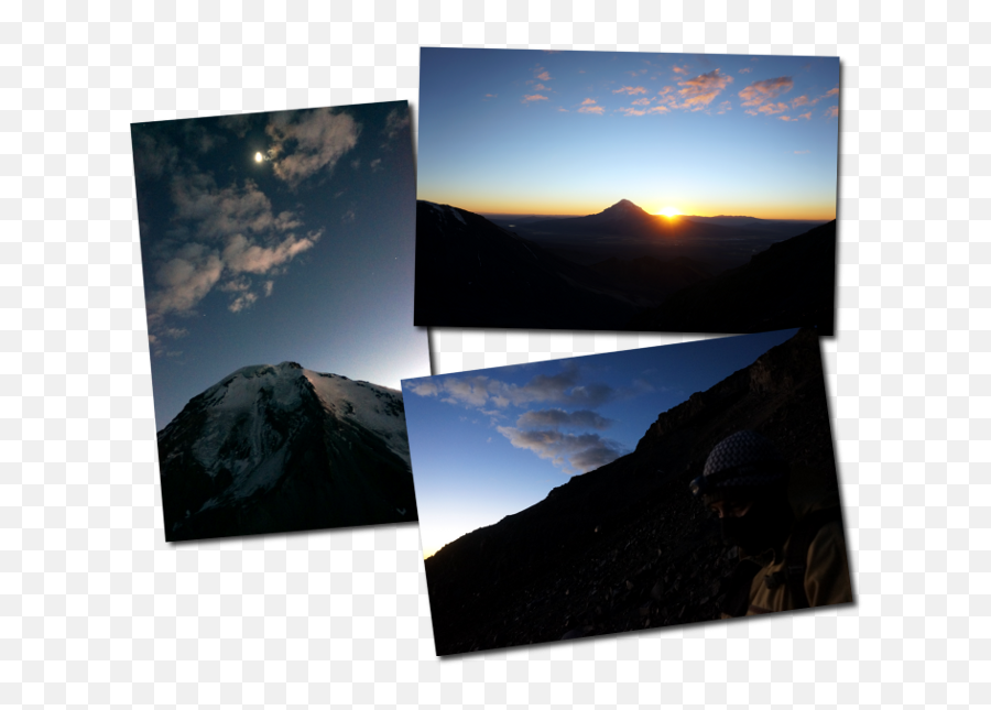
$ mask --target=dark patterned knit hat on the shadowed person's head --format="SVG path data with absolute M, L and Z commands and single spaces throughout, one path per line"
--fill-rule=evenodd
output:
M 691 492 L 706 502 L 752 500 L 787 482 L 788 467 L 767 438 L 756 432 L 737 432 L 712 448 Z

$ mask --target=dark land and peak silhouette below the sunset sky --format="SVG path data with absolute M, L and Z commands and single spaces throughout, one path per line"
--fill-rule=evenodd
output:
M 512 231 L 417 201 L 414 324 L 676 332 L 813 326 L 832 335 L 835 221 L 784 239 L 775 230 L 803 222 L 698 219 L 672 221 L 623 200 L 599 215 Z M 725 271 L 727 254 L 742 265 Z

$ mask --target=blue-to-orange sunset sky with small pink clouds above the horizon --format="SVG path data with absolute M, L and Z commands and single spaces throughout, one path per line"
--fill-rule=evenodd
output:
M 837 57 L 423 47 L 417 196 L 836 217 Z

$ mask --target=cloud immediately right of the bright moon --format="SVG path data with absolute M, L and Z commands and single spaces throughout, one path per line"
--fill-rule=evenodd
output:
M 330 171 L 358 144 L 361 127 L 348 113 L 331 109 L 282 111 L 273 114 L 265 133 L 272 140 L 268 157 L 276 177 L 296 187 L 320 171 Z

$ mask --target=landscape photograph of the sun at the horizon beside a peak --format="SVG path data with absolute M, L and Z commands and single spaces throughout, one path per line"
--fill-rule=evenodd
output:
M 835 57 L 424 47 L 416 325 L 831 336 L 838 87 Z

